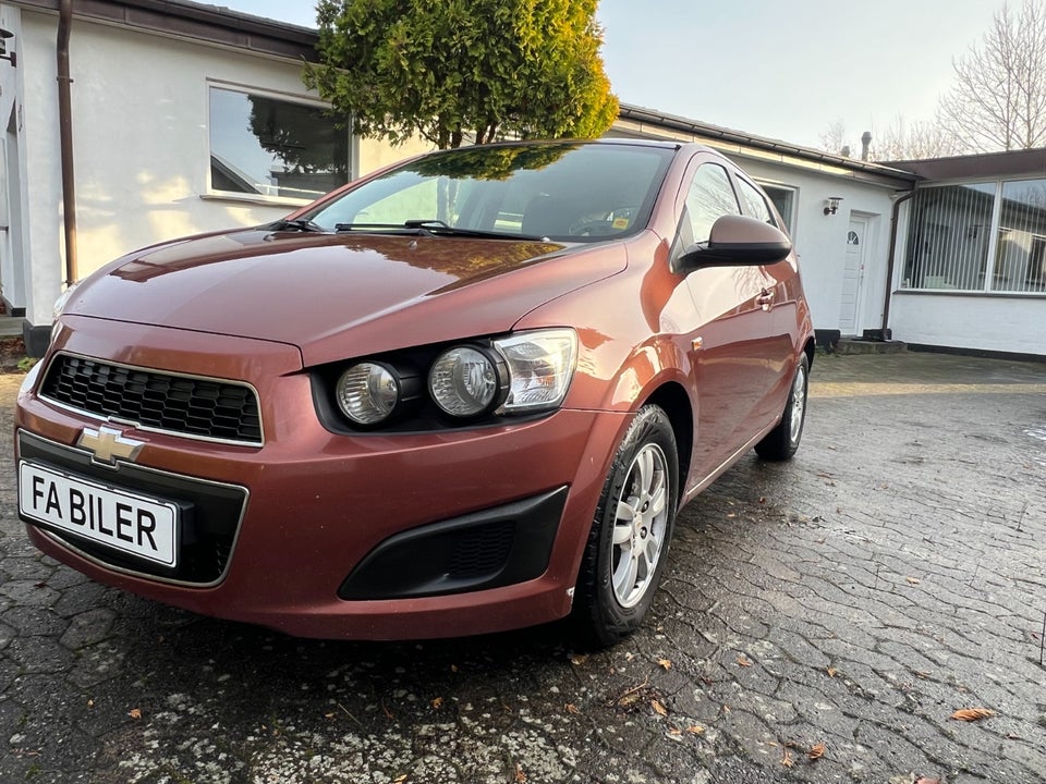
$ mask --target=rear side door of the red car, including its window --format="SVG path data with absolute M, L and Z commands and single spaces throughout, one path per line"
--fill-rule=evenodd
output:
M 769 200 L 744 176 L 734 172 L 741 209 L 744 215 L 782 229 Z M 783 229 L 782 229 L 783 231 Z M 770 421 L 784 408 L 795 370 L 795 329 L 799 323 L 799 270 L 794 256 L 761 267 L 764 275 L 763 309 L 769 316 L 770 334 L 766 341 L 766 387 L 756 404 L 755 416 Z

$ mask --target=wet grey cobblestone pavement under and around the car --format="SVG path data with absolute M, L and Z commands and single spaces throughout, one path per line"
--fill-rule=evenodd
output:
M 4 451 L 0 782 L 1046 781 L 1046 365 L 823 356 L 811 396 L 796 458 L 693 502 L 646 628 L 588 656 L 104 588 L 27 543 Z

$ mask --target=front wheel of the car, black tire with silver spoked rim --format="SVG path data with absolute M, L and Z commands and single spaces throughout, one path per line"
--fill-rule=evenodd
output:
M 611 646 L 642 624 L 665 568 L 678 482 L 668 416 L 643 406 L 613 457 L 582 559 L 572 621 L 583 646 Z

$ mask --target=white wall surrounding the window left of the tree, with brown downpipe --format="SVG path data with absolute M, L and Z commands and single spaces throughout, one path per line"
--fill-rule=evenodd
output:
M 58 17 L 25 10 L 24 73 L 32 280 L 26 315 L 49 323 L 63 280 Z M 78 277 L 163 240 L 287 215 L 294 205 L 207 196 L 208 81 L 312 97 L 301 63 L 74 19 L 72 103 Z M 2 63 L 0 63 L 2 65 Z M 366 143 L 355 174 L 417 151 Z

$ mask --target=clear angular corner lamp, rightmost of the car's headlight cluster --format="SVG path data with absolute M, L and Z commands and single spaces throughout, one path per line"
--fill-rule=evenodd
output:
M 577 335 L 571 329 L 520 332 L 494 341 L 509 367 L 506 413 L 555 408 L 563 402 L 577 359 Z

